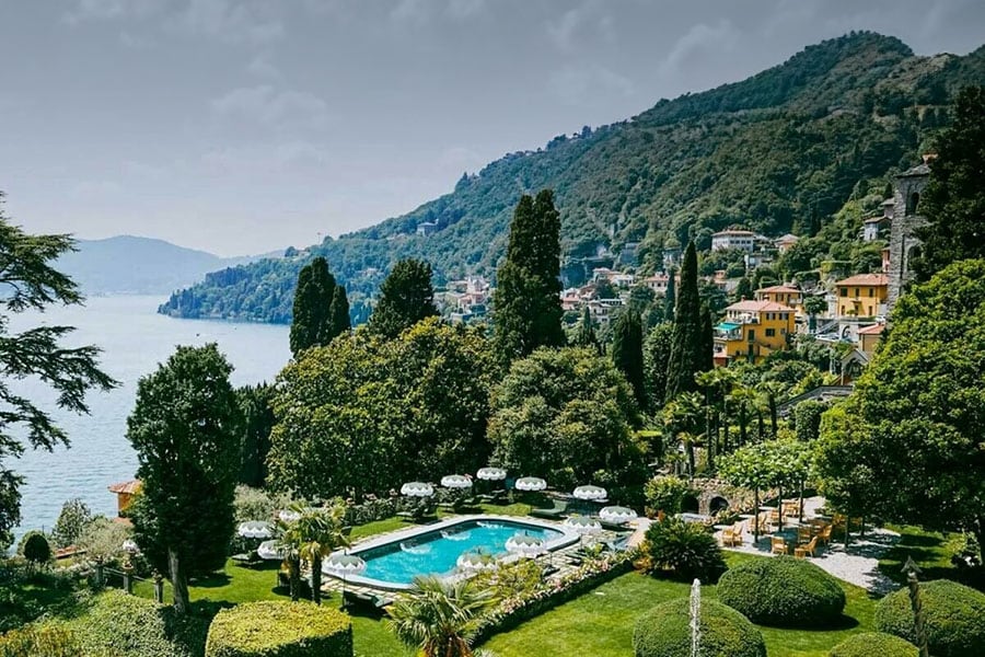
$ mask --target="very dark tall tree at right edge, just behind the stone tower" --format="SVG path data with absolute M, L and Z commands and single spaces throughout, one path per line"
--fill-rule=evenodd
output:
M 985 87 L 961 90 L 952 114 L 919 201 L 919 212 L 930 220 L 918 231 L 924 241 L 914 261 L 919 280 L 953 262 L 985 258 Z

